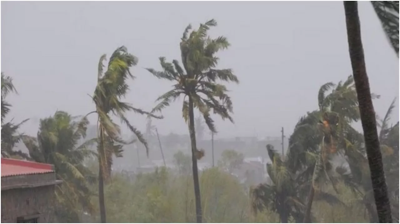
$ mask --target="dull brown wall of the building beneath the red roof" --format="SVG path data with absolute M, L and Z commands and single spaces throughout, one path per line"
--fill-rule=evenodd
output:
M 38 222 L 54 222 L 54 185 L 1 191 L 1 222 L 40 214 Z

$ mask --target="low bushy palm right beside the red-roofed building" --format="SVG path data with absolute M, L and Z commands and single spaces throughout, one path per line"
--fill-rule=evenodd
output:
M 57 179 L 62 180 L 56 187 L 60 206 L 56 208 L 59 222 L 79 222 L 79 214 L 93 212 L 90 202 L 93 194 L 88 187 L 89 177 L 94 175 L 83 165 L 84 159 L 92 155 L 87 147 L 96 140 L 78 145 L 86 137 L 88 120 L 75 121 L 76 117 L 62 111 L 40 120 L 37 138 L 24 136 L 23 142 L 30 157 L 39 163 L 54 165 Z

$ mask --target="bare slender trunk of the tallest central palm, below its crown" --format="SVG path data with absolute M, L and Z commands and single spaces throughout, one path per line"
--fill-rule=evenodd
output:
M 196 134 L 194 131 L 194 113 L 193 113 L 193 100 L 189 97 L 189 133 L 190 142 L 192 144 L 192 168 L 193 168 L 193 185 L 194 185 L 194 198 L 196 202 L 196 220 L 198 223 L 202 222 L 202 211 L 201 211 L 201 198 L 200 198 L 200 184 L 197 169 L 197 158 L 196 158 Z

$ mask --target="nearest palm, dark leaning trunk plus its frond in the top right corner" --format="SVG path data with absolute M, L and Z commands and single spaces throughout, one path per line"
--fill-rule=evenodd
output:
M 398 2 L 379 3 L 372 2 L 375 12 L 381 20 L 382 27 L 390 39 L 393 49 L 398 56 L 399 40 L 399 4 Z M 346 15 L 347 39 L 349 46 L 350 61 L 356 84 L 357 98 L 360 108 L 360 117 L 366 153 L 370 167 L 372 187 L 374 192 L 376 210 L 378 211 L 379 222 L 392 222 L 392 212 L 388 197 L 382 153 L 380 151 L 378 131 L 376 129 L 376 118 L 370 84 L 366 73 L 364 49 L 361 41 L 361 26 L 358 16 L 357 2 L 344 2 Z

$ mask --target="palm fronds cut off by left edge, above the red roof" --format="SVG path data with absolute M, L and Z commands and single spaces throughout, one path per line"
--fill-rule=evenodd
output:
M 18 94 L 12 83 L 12 78 L 1 73 L 1 156 L 28 159 L 26 153 L 23 153 L 21 150 L 15 151 L 14 146 L 24 136 L 23 134 L 17 134 L 18 129 L 29 119 L 23 120 L 19 124 L 12 123 L 12 120 L 4 123 L 4 118 L 11 110 L 11 104 L 6 101 L 6 96 L 10 92 Z

